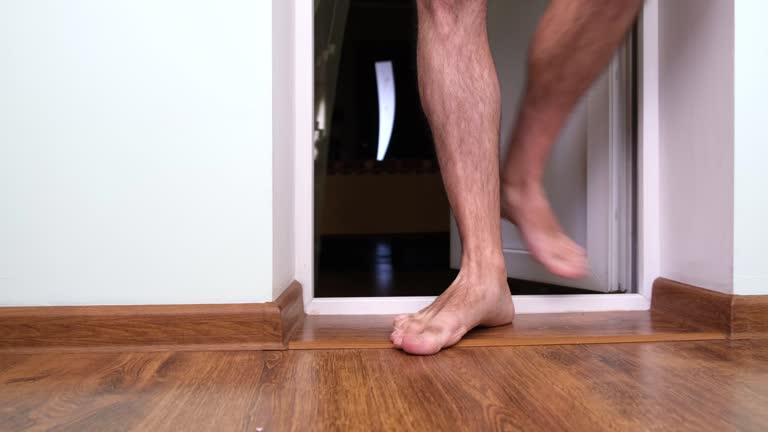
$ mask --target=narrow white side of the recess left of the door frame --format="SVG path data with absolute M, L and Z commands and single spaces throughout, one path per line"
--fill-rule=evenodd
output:
M 294 279 L 294 7 L 272 0 L 272 297 Z

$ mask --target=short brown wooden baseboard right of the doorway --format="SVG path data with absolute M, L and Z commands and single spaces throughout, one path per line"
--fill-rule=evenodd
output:
M 724 294 L 659 278 L 653 284 L 651 310 L 717 328 L 730 339 L 768 337 L 768 295 Z

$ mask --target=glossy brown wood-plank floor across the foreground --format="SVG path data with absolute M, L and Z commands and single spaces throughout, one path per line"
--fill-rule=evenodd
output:
M 0 430 L 766 431 L 768 341 L 0 355 Z

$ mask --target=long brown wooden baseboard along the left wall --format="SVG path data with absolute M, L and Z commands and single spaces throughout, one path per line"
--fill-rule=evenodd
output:
M 0 308 L 0 351 L 287 349 L 303 319 L 301 285 L 252 304 Z

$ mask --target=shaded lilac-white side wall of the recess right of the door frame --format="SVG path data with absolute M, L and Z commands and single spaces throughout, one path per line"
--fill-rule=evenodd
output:
M 733 1 L 659 2 L 661 276 L 733 290 Z

